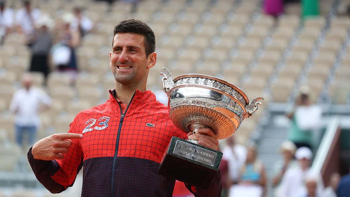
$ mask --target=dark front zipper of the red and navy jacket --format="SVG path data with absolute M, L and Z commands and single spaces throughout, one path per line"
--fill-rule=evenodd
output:
M 124 120 L 124 116 L 126 114 L 126 111 L 128 110 L 130 104 L 131 104 L 131 101 L 134 99 L 134 96 L 136 94 L 136 91 L 134 92 L 134 95 L 131 97 L 131 100 L 128 104 L 128 106 L 126 107 L 124 113 L 123 111 L 121 110 L 121 105 L 120 103 L 118 102 L 117 100 L 117 97 L 115 95 L 115 91 L 114 90 L 114 94 L 113 94 L 113 97 L 114 99 L 116 99 L 119 107 L 120 107 L 120 121 L 119 121 L 119 128 L 118 128 L 118 133 L 117 133 L 117 140 L 116 140 L 116 148 L 114 149 L 114 157 L 113 157 L 113 165 L 112 165 L 112 179 L 111 179 L 111 196 L 114 196 L 114 174 L 115 174 L 115 168 L 116 168 L 116 163 L 117 163 L 117 155 L 118 155 L 118 145 L 119 145 L 119 137 L 120 137 L 120 131 L 121 131 L 121 127 L 123 125 L 123 120 Z

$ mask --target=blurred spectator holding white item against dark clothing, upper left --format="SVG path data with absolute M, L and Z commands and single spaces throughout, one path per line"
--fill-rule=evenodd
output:
M 79 45 L 80 34 L 79 31 L 70 28 L 70 24 L 75 20 L 73 14 L 64 14 L 62 20 L 62 27 L 58 29 L 58 43 L 52 47 L 52 63 L 58 72 L 71 75 L 74 83 L 78 71 L 75 48 Z

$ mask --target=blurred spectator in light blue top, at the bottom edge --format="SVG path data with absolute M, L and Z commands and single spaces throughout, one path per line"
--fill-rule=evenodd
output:
M 266 172 L 262 161 L 257 158 L 255 146 L 248 148 L 247 159 L 240 172 L 239 183 L 231 186 L 229 197 L 264 196 Z

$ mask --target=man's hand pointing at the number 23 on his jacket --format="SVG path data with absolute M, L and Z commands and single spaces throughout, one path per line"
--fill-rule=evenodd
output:
M 70 139 L 80 139 L 82 137 L 83 134 L 53 134 L 35 143 L 31 149 L 31 154 L 35 159 L 46 161 L 63 159 L 63 154 L 67 153 L 69 147 L 73 144 Z

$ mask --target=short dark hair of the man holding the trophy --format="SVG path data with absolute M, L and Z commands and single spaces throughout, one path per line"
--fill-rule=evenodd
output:
M 155 36 L 154 32 L 145 22 L 142 22 L 137 19 L 126 19 L 123 21 L 120 21 L 116 27 L 114 27 L 113 30 L 113 41 L 112 41 L 112 47 L 114 42 L 114 36 L 118 33 L 135 33 L 140 34 L 144 36 L 144 45 L 146 50 L 146 56 L 148 57 L 149 54 L 155 52 Z

